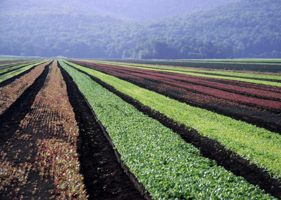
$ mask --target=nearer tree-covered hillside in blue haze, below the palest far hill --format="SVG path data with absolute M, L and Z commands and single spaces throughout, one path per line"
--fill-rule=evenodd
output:
M 281 58 L 281 2 L 243 0 L 148 21 L 1 15 L 0 53 L 73 58 Z

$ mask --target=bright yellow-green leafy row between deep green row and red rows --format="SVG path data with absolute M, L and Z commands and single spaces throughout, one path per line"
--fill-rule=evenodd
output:
M 218 140 L 227 149 L 236 152 L 251 163 L 265 168 L 275 177 L 281 177 L 280 134 L 208 110 L 189 106 L 114 76 L 65 62 L 110 84 L 116 90 L 139 100 L 151 109 L 196 129 L 200 135 Z

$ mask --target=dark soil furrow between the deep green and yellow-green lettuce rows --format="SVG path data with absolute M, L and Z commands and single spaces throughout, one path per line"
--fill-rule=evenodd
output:
M 82 70 L 79 71 L 87 74 Z M 239 155 L 233 153 L 232 151 L 226 150 L 225 147 L 218 141 L 200 136 L 196 130 L 189 130 L 189 127 L 179 125 L 174 120 L 169 119 L 167 116 L 159 112 L 151 110 L 151 108 L 148 106 L 145 106 L 130 96 L 119 92 L 118 90 L 114 89 L 114 87 L 99 80 L 98 78 L 89 74 L 87 75 L 90 76 L 92 80 L 108 89 L 110 92 L 113 92 L 122 98 L 125 102 L 132 104 L 139 111 L 143 112 L 144 114 L 148 114 L 149 117 L 156 119 L 164 126 L 171 128 L 171 130 L 178 133 L 186 142 L 193 144 L 196 148 L 199 148 L 204 157 L 215 160 L 218 165 L 233 172 L 236 176 L 244 177 L 249 183 L 253 185 L 259 185 L 260 188 L 264 189 L 267 193 L 270 193 L 272 196 L 281 199 L 280 180 L 271 178 L 270 174 L 264 171 L 264 169 L 250 164 L 249 161 L 243 159 Z

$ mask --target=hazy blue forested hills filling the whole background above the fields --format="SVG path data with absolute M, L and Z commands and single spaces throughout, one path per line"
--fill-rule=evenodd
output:
M 0 54 L 281 58 L 280 0 L 0 2 Z

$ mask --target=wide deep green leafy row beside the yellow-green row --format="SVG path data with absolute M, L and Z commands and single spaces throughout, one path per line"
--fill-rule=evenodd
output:
M 134 106 L 59 60 L 153 199 L 274 199 L 236 177 Z

